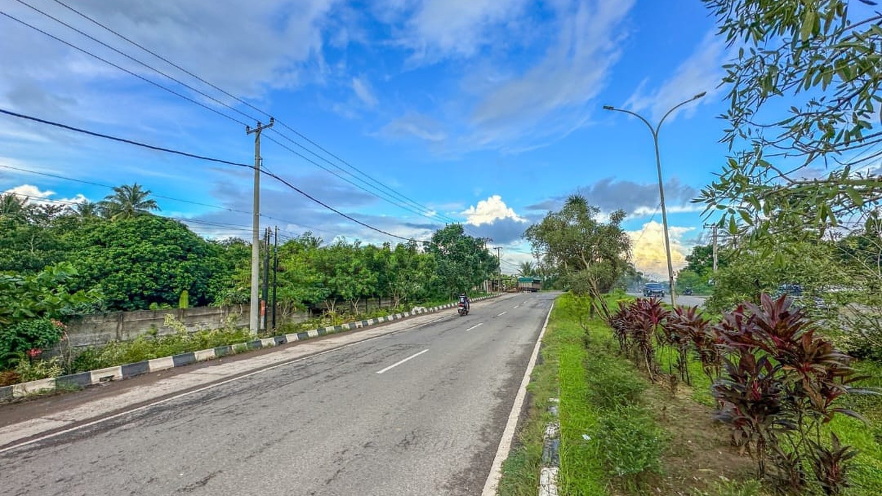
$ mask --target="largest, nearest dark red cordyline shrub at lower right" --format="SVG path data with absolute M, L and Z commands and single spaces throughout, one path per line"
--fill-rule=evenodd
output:
M 759 306 L 737 307 L 713 332 L 723 355 L 721 376 L 712 386 L 720 404 L 716 418 L 755 457 L 759 476 L 773 479 L 782 492 L 799 494 L 808 484 L 803 470 L 808 461 L 827 494 L 841 493 L 854 450 L 835 436 L 826 448 L 819 426 L 837 413 L 859 418 L 837 403 L 857 391 L 850 384 L 860 377 L 848 366 L 850 358 L 818 336 L 786 295 L 773 300 L 763 294 Z M 767 461 L 774 470 L 766 470 Z

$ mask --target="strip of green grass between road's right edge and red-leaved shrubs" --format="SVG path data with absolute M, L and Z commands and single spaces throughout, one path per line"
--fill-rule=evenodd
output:
M 665 437 L 643 406 L 645 381 L 615 352 L 609 328 L 579 327 L 571 294 L 555 303 L 542 341 L 542 363 L 534 369 L 530 415 L 519 445 L 503 464 L 499 494 L 534 495 L 542 464 L 542 433 L 549 398 L 559 397 L 558 490 L 568 495 L 603 495 L 614 488 L 640 492 L 647 474 L 659 470 Z

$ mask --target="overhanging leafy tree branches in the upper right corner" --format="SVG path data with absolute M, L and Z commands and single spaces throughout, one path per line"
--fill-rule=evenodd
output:
M 733 154 L 699 200 L 759 241 L 875 217 L 882 13 L 846 0 L 703 1 L 737 56 L 722 115 Z

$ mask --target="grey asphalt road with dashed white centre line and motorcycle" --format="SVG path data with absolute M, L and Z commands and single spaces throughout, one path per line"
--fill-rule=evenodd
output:
M 449 310 L 7 450 L 0 494 L 480 494 L 554 296 Z

